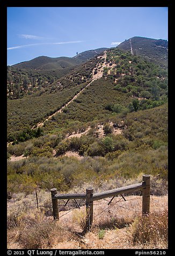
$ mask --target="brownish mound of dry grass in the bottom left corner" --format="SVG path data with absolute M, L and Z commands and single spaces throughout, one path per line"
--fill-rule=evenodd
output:
M 35 210 L 20 216 L 16 229 L 8 231 L 8 248 L 52 248 L 54 243 L 65 243 L 72 237 L 75 235 L 69 227 Z

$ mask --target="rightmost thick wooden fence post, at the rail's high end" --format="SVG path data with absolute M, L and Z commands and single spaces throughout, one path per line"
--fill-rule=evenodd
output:
M 149 216 L 150 210 L 150 175 L 143 175 L 143 182 L 145 182 L 145 188 L 142 190 L 142 215 Z

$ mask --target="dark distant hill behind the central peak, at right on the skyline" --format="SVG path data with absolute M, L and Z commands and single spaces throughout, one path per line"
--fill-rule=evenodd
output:
M 125 51 L 131 51 L 130 43 L 133 49 L 133 55 L 143 56 L 147 60 L 153 61 L 167 67 L 168 63 L 168 42 L 163 39 L 152 39 L 145 37 L 133 37 L 125 40 L 116 46 Z

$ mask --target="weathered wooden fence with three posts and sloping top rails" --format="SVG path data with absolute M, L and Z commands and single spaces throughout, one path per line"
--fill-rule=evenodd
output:
M 121 188 L 111 189 L 100 193 L 93 194 L 93 188 L 87 188 L 84 194 L 57 194 L 57 189 L 50 189 L 53 205 L 53 217 L 59 220 L 59 206 L 57 200 L 61 199 L 84 199 L 86 200 L 86 230 L 89 230 L 93 221 L 93 201 L 100 200 L 107 197 L 113 198 L 117 195 L 129 194 L 136 190 L 142 190 L 142 215 L 149 215 L 150 210 L 150 175 L 143 175 L 141 183 L 129 185 Z M 77 201 L 76 201 L 77 203 Z

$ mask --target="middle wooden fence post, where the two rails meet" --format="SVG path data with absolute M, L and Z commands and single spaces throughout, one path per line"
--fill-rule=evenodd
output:
M 93 188 L 86 189 L 86 226 L 85 230 L 90 230 L 93 221 L 93 201 L 91 198 L 93 196 Z

